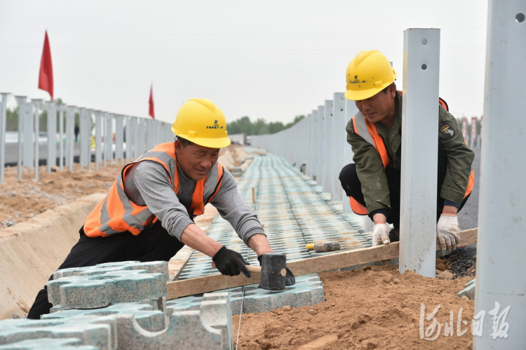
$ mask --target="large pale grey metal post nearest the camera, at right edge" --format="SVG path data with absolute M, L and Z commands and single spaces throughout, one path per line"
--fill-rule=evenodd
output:
M 473 312 L 485 315 L 473 337 L 478 350 L 526 349 L 525 15 L 523 0 L 489 2 Z

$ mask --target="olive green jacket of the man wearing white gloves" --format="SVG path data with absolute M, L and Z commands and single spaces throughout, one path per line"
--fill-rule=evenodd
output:
M 398 92 L 395 103 L 395 119 L 391 130 L 388 130 L 382 123 L 376 123 L 376 126 L 389 154 L 389 167 L 401 170 L 402 95 Z M 351 144 L 354 152 L 353 161 L 356 163 L 356 173 L 362 184 L 367 213 L 378 209 L 391 209 L 387 177 L 379 153 L 372 144 L 356 134 L 352 119 L 347 123 L 345 130 L 347 131 L 347 142 Z M 464 136 L 457 120 L 442 106 L 439 107 L 438 112 L 438 142 L 444 147 L 448 161 L 440 196 L 454 203 L 461 203 L 468 187 L 471 163 L 473 163 L 475 154 L 464 142 Z M 437 157 L 437 154 L 430 156 Z

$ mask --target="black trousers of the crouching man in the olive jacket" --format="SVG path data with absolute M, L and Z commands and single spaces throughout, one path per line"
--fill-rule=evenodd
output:
M 440 218 L 444 208 L 444 198 L 440 197 L 440 187 L 442 186 L 447 173 L 447 154 L 442 145 L 438 144 L 438 178 L 437 178 L 437 194 L 436 194 L 436 220 Z M 391 202 L 391 210 L 387 217 L 387 222 L 393 224 L 395 229 L 400 228 L 400 182 L 401 171 L 387 167 L 385 170 L 387 177 L 387 184 L 389 186 L 389 201 Z M 356 164 L 351 163 L 344 166 L 339 173 L 339 181 L 347 196 L 353 197 L 358 203 L 365 207 L 365 200 L 363 199 L 362 185 L 356 174 Z M 470 194 L 464 197 L 460 203 L 459 211 L 464 207 Z

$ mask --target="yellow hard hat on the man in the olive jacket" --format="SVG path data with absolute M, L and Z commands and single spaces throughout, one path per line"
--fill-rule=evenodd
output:
M 378 50 L 362 51 L 349 62 L 345 74 L 347 100 L 365 100 L 391 85 L 396 72 L 391 62 Z

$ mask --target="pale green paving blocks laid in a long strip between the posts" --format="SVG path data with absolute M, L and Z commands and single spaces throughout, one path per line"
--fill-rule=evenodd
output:
M 254 149 L 245 148 L 252 152 Z M 287 260 L 313 257 L 306 243 L 339 241 L 342 250 L 365 248 L 371 245 L 370 235 L 363 234 L 363 218 L 343 215 L 342 203 L 333 203 L 323 194 L 316 182 L 308 179 L 281 157 L 273 154 L 258 155 L 238 182 L 241 197 L 257 213 L 264 225 L 271 247 L 276 253 L 285 253 Z M 252 203 L 252 189 L 256 201 Z M 259 264 L 255 253 L 234 232 L 229 222 L 217 216 L 207 229 L 208 236 L 222 245 L 241 253 L 250 264 Z M 331 253 L 321 253 L 331 254 Z M 194 251 L 179 279 L 217 274 L 210 257 Z M 290 305 L 310 306 L 323 302 L 323 287 L 317 274 L 299 276 L 296 285 L 283 292 L 269 292 L 257 285 L 245 287 L 243 313 L 261 312 Z M 232 312 L 241 311 L 243 288 L 222 290 L 229 292 Z M 199 297 L 182 297 L 168 302 L 170 309 L 193 309 Z

